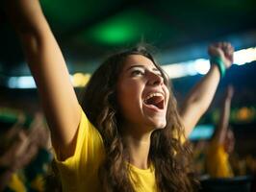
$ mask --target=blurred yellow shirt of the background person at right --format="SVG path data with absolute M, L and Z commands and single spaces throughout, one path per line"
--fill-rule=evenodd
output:
M 206 156 L 206 170 L 212 178 L 231 178 L 234 176 L 228 154 L 224 147 L 213 140 Z

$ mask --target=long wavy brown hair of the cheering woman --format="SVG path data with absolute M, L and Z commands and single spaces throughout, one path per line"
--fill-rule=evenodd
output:
M 122 141 L 121 112 L 116 100 L 116 84 L 128 56 L 141 55 L 152 60 L 161 71 L 170 93 L 166 112 L 166 128 L 152 133 L 149 161 L 155 168 L 158 191 L 192 191 L 192 178 L 188 175 L 190 148 L 182 143 L 184 129 L 177 110 L 176 100 L 169 80 L 161 67 L 144 47 L 117 53 L 94 72 L 87 84 L 82 108 L 90 122 L 101 133 L 106 157 L 99 168 L 103 190 L 132 192 L 134 186 L 129 177 L 129 154 Z

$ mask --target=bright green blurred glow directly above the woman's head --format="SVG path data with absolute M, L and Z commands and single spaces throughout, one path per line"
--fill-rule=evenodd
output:
M 158 29 L 162 30 L 158 31 Z M 167 32 L 167 36 L 169 36 L 174 31 L 146 12 L 130 10 L 120 12 L 114 17 L 99 23 L 79 36 L 77 40 L 81 42 L 83 39 L 90 39 L 101 45 L 122 46 L 141 40 L 148 42 L 153 39 L 156 42 L 163 38 L 163 32 Z

